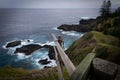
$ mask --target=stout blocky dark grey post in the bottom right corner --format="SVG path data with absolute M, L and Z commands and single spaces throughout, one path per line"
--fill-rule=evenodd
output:
M 95 58 L 92 62 L 91 80 L 114 80 L 117 70 L 116 64 Z

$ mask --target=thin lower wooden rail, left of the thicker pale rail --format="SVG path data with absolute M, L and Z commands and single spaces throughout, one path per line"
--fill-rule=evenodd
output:
M 56 63 L 57 63 L 58 80 L 64 80 L 63 75 L 62 75 L 60 62 L 59 62 L 59 59 L 58 59 L 58 53 L 57 53 L 56 47 L 54 46 L 53 48 L 54 48 L 54 51 L 55 51 L 55 58 L 56 58 Z

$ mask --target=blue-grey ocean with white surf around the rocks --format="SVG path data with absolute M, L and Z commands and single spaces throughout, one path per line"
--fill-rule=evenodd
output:
M 75 31 L 62 31 L 57 27 L 61 24 L 78 24 L 82 18 L 96 18 L 99 10 L 90 9 L 0 9 L 0 67 L 12 66 L 24 69 L 42 69 L 44 66 L 56 66 L 54 60 L 50 60 L 47 49 L 34 51 L 25 56 L 22 53 L 13 54 L 20 47 L 5 48 L 8 42 L 22 40 L 22 45 L 48 44 L 54 45 L 51 36 L 61 35 L 64 40 L 63 49 L 67 49 L 73 41 L 84 33 Z M 30 43 L 26 40 L 29 39 Z M 21 46 L 22 46 L 21 45 Z M 48 58 L 51 63 L 41 65 L 41 59 Z

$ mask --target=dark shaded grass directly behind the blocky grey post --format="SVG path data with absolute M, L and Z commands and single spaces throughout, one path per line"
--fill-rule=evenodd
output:
M 108 44 L 100 44 L 100 46 L 101 48 L 96 50 L 96 53 L 100 54 L 98 57 L 120 65 L 120 47 Z

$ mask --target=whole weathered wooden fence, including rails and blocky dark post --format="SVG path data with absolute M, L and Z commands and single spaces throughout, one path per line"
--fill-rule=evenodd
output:
M 95 58 L 96 47 L 91 51 L 91 53 L 88 53 L 88 55 L 82 60 L 82 62 L 78 65 L 78 67 L 75 68 L 71 60 L 68 58 L 64 50 L 61 48 L 55 35 L 52 34 L 52 36 L 56 44 L 56 48 L 54 47 L 54 50 L 56 53 L 59 80 L 63 80 L 63 78 L 62 78 L 62 71 L 60 68 L 60 64 L 58 61 L 57 52 L 59 53 L 68 71 L 68 74 L 70 76 L 69 80 L 88 80 L 89 76 L 92 76 L 91 78 L 96 80 L 114 80 L 118 70 L 117 65 L 102 59 Z M 90 72 L 91 67 L 92 67 L 92 72 Z M 90 73 L 94 73 L 94 74 L 90 74 Z

